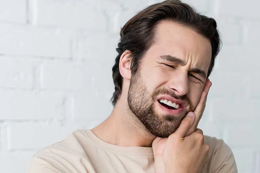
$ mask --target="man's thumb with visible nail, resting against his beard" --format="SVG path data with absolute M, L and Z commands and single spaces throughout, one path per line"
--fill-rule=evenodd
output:
M 181 125 L 175 131 L 175 134 L 178 134 L 181 137 L 184 137 L 192 124 L 194 123 L 195 114 L 193 112 L 189 112 L 185 118 L 181 121 Z

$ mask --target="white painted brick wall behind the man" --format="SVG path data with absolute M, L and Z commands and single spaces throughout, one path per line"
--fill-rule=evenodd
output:
M 0 0 L 0 172 L 110 114 L 120 27 L 158 1 Z M 259 173 L 260 2 L 185 2 L 223 37 L 199 127 L 231 146 L 240 173 Z

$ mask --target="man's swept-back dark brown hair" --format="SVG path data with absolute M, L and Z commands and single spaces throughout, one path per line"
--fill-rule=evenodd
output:
M 201 15 L 190 5 L 179 0 L 168 0 L 148 6 L 133 16 L 120 31 L 118 56 L 112 68 L 115 91 L 111 98 L 116 105 L 122 90 L 122 76 L 119 72 L 119 60 L 125 50 L 131 51 L 131 73 L 137 72 L 141 58 L 154 42 L 155 27 L 163 20 L 174 21 L 194 29 L 211 42 L 212 55 L 207 77 L 210 75 L 215 58 L 220 50 L 221 40 L 217 23 L 213 18 Z

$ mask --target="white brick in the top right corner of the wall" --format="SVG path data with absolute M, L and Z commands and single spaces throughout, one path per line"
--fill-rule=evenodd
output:
M 260 18 L 259 5 L 260 1 L 255 0 L 248 0 L 246 3 L 239 3 L 236 0 L 220 0 L 219 13 L 225 16 Z

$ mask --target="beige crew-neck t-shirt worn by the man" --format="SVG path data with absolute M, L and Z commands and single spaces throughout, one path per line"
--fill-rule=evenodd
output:
M 223 140 L 205 137 L 210 160 L 203 173 L 235 173 L 233 153 Z M 151 147 L 126 147 L 106 143 L 91 130 L 77 130 L 67 139 L 41 149 L 26 164 L 25 173 L 152 173 Z

